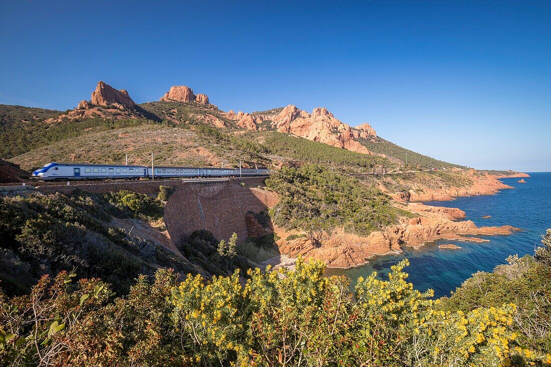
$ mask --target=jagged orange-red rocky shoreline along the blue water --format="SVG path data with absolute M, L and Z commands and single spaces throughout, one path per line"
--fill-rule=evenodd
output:
M 473 174 L 472 171 L 469 171 Z M 387 228 L 385 231 L 376 231 L 369 236 L 362 237 L 345 233 L 343 229 L 334 230 L 329 234 L 326 231 L 317 231 L 306 234 L 299 230 L 286 231 L 274 228 L 280 237 L 277 241 L 280 252 L 285 256 L 285 265 L 290 259 L 298 256 L 312 257 L 322 260 L 330 268 L 352 268 L 365 265 L 375 256 L 389 255 L 402 252 L 402 246 L 418 249 L 427 242 L 439 239 L 489 242 L 488 239 L 474 237 L 476 235 L 509 235 L 520 229 L 510 225 L 477 227 L 471 220 L 461 220 L 465 213 L 458 208 L 428 206 L 415 201 L 451 200 L 458 196 L 494 195 L 500 190 L 513 188 L 499 181 L 504 177 L 529 177 L 527 174 L 515 173 L 512 175 L 472 175 L 473 185 L 469 187 L 451 188 L 447 191 L 435 190 L 427 192 L 425 196 L 417 195 L 406 202 L 395 198 L 395 205 L 409 212 L 417 214 L 415 218 L 402 217 L 399 224 Z M 290 240 L 287 240 L 287 239 Z M 460 246 L 457 246 L 460 247 Z M 443 247 L 443 248 L 452 248 Z M 455 248 L 455 247 L 453 247 Z M 277 261 L 271 265 L 278 266 Z

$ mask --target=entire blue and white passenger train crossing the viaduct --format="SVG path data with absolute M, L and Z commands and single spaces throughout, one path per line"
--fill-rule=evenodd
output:
M 199 177 L 267 176 L 269 169 L 215 167 L 147 167 L 139 165 L 48 163 L 33 171 L 31 178 L 43 181 L 104 180 L 104 179 L 172 179 Z

